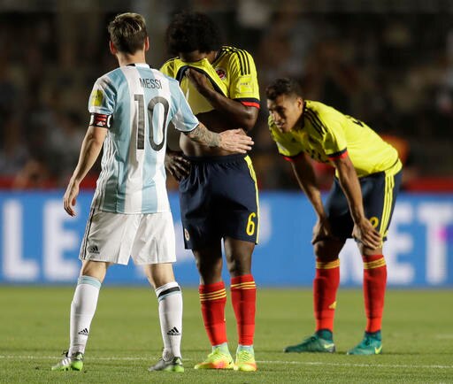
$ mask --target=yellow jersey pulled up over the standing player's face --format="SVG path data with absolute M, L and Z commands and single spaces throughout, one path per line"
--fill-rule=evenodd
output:
M 185 75 L 189 67 L 204 73 L 211 87 L 223 96 L 259 108 L 257 69 L 246 50 L 225 46 L 219 50 L 219 56 L 212 64 L 207 58 L 195 63 L 171 58 L 160 68 L 162 73 L 180 82 L 180 88 L 195 114 L 212 111 L 212 105 L 198 93 Z

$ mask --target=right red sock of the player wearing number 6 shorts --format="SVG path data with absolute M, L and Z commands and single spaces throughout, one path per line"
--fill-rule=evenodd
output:
M 253 345 L 257 286 L 251 274 L 231 279 L 231 301 L 236 315 L 239 343 Z

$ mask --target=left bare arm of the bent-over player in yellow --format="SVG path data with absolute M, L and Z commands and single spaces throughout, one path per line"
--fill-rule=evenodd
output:
M 310 161 L 307 156 L 303 154 L 291 162 L 291 165 L 300 188 L 302 188 L 303 192 L 310 200 L 318 216 L 318 220 L 313 227 L 311 243 L 314 244 L 315 242 L 331 237 L 332 232 L 328 219 L 326 218 L 324 205 L 322 204 L 321 192 L 319 191 L 316 175 Z

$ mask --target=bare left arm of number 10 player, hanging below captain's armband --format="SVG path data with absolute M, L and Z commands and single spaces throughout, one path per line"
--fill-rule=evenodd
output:
M 69 180 L 69 184 L 63 196 L 63 204 L 65 211 L 70 216 L 75 216 L 74 206 L 75 199 L 79 195 L 79 185 L 81 180 L 87 175 L 88 171 L 95 164 L 96 158 L 99 156 L 107 129 L 102 127 L 88 127 L 87 134 L 81 143 L 81 154 L 79 162 L 75 167 L 73 176 Z

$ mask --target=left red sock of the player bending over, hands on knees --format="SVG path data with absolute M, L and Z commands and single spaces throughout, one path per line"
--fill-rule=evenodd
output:
M 336 291 L 340 285 L 340 259 L 327 263 L 316 260 L 316 275 L 313 280 L 313 301 L 316 330 L 334 332 Z

